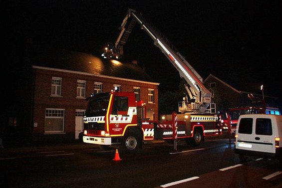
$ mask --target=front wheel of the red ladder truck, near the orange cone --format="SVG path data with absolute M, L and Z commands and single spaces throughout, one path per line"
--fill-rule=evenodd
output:
M 121 149 L 124 152 L 137 152 L 137 150 L 141 146 L 141 136 L 138 133 L 135 132 L 127 132 L 123 139 L 121 144 Z

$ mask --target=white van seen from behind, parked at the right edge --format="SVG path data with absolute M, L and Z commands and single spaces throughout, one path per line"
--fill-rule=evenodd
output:
M 242 161 L 247 156 L 282 161 L 282 115 L 241 115 L 236 127 L 235 153 Z

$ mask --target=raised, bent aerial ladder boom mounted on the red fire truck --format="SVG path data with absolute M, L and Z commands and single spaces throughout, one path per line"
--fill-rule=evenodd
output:
M 116 41 L 114 44 L 107 43 L 102 56 L 104 58 L 121 58 L 123 56 L 123 46 L 126 44 L 136 22 L 141 25 L 141 29 L 146 31 L 153 39 L 154 44 L 160 48 L 179 71 L 187 96 L 185 100 L 179 102 L 178 111 L 180 113 L 216 114 L 216 104 L 212 103 L 212 92 L 204 86 L 203 78 L 161 32 L 134 9 L 128 9 Z

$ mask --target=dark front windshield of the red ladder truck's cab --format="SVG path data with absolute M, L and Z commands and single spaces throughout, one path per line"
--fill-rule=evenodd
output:
M 104 116 L 107 112 L 110 96 L 103 95 L 90 98 L 88 102 L 88 107 L 85 112 L 85 116 Z

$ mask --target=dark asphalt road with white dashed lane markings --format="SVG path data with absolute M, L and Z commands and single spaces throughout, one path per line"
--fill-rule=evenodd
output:
M 137 153 L 104 152 L 84 143 L 0 149 L 1 188 L 281 188 L 276 160 L 241 163 L 225 137 L 198 147 L 162 141 Z

